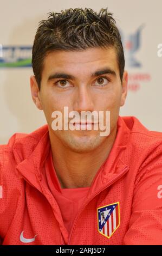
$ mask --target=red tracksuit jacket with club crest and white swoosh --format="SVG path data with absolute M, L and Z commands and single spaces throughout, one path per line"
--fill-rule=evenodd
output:
M 162 133 L 119 117 L 111 153 L 70 234 L 42 172 L 48 126 L 0 147 L 2 245 L 162 245 Z

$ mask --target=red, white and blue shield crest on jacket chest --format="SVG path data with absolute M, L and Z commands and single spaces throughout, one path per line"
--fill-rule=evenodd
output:
M 102 206 L 97 211 L 98 231 L 101 235 L 110 238 L 120 225 L 119 202 Z

